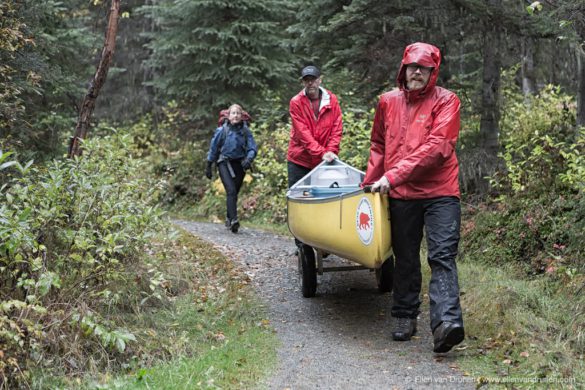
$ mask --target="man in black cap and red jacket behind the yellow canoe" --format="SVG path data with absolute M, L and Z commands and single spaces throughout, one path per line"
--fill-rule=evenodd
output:
M 341 109 L 337 96 L 321 87 L 321 72 L 309 65 L 301 71 L 304 88 L 290 100 L 290 140 L 288 143 L 289 188 L 315 168 L 322 160 L 337 158 L 343 131 Z M 310 258 L 313 250 L 305 249 Z

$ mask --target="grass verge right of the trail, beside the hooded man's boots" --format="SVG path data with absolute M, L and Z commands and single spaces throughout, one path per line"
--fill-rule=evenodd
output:
M 511 266 L 467 260 L 458 268 L 466 341 L 457 361 L 465 375 L 478 385 L 583 388 L 582 278 L 561 286 L 545 275 L 524 279 Z

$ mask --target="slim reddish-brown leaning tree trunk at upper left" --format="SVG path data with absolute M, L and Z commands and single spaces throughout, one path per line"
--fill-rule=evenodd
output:
M 114 48 L 116 47 L 116 33 L 118 31 L 119 13 L 120 0 L 112 0 L 102 56 L 79 110 L 79 118 L 77 119 L 77 126 L 75 127 L 75 135 L 69 144 L 70 158 L 73 156 L 79 156 L 81 154 L 80 140 L 87 137 L 89 121 L 95 108 L 95 101 L 99 95 L 100 89 L 106 82 L 108 70 L 110 69 L 110 63 L 112 61 L 112 57 L 114 56 Z

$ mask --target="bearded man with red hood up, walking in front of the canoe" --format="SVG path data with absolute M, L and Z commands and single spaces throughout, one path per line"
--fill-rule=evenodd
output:
M 459 244 L 459 135 L 457 96 L 436 86 L 441 53 L 435 46 L 406 47 L 398 89 L 379 100 L 364 184 L 388 193 L 396 258 L 392 316 L 394 340 L 416 333 L 421 291 L 420 244 L 426 229 L 431 267 L 429 299 L 434 352 L 463 341 L 455 257 Z

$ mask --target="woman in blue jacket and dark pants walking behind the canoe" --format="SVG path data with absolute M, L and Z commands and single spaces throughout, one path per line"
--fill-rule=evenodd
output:
M 226 191 L 227 216 L 225 225 L 233 233 L 240 228 L 238 221 L 238 193 L 247 169 L 256 157 L 257 148 L 248 124 L 242 120 L 244 110 L 239 104 L 228 109 L 228 119 L 215 130 L 209 152 L 205 176 L 211 179 L 211 167 L 217 164 L 219 177 Z

